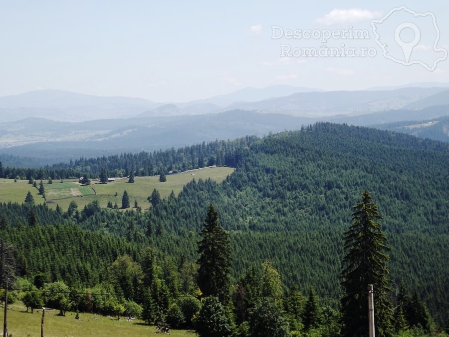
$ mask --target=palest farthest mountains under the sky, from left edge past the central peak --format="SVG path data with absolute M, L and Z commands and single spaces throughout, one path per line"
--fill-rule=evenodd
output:
M 250 102 L 314 90 L 319 89 L 274 85 L 261 89 L 245 88 L 192 102 L 163 103 L 143 98 L 101 97 L 47 89 L 0 97 L 0 114 L 3 121 L 34 117 L 68 122 L 130 118 L 138 115 L 145 117 L 205 114 L 225 111 L 227 106 L 237 101 Z

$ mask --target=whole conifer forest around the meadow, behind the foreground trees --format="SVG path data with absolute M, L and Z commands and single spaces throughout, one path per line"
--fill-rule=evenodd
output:
M 7 178 L 57 180 L 94 177 L 102 170 L 109 176 L 130 172 L 137 176 L 210 164 L 232 166 L 235 172 L 220 184 L 192 181 L 177 197 L 152 203 L 148 212 L 117 212 L 95 203 L 82 210 L 73 205 L 67 211 L 36 205 L 33 212 L 40 226 L 30 227 L 28 204 L 3 203 L 2 237 L 18 247 L 20 276 L 44 274 L 48 282 L 94 287 L 108 280 L 108 264 L 123 255 L 141 261 L 141 250 L 148 245 L 157 249 L 162 260 L 174 259 L 178 264 L 183 257 L 184 263 L 194 263 L 212 203 L 229 235 L 234 281 L 269 260 L 288 289 L 338 292 L 343 233 L 350 225 L 352 206 L 367 190 L 383 218 L 393 283 L 403 281 L 411 290 L 417 289 L 436 322 L 447 326 L 447 311 L 440 310 L 449 304 L 445 288 L 449 149 L 445 143 L 317 123 L 263 138 L 80 158 L 36 169 L 1 167 L 0 173 Z M 76 236 L 83 239 L 73 240 Z M 48 245 L 32 242 L 37 237 Z M 108 243 L 95 248 L 93 242 L 103 241 Z M 60 258 L 50 263 L 46 256 Z

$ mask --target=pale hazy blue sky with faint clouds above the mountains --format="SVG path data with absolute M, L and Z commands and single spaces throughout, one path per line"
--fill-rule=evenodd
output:
M 405 10 L 384 17 L 401 5 L 436 21 Z M 449 60 L 441 60 L 448 17 L 448 0 L 4 1 L 0 96 L 61 89 L 180 102 L 248 86 L 449 82 Z M 376 43 L 375 19 L 390 58 Z M 399 46 L 400 24 L 401 40 L 416 37 L 407 22 L 419 28 L 419 40 Z M 357 31 L 365 38 L 350 38 Z M 355 57 L 326 56 L 332 48 Z M 311 51 L 318 56 L 305 55 Z

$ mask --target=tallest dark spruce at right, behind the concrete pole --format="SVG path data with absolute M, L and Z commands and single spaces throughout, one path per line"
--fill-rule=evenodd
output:
M 345 232 L 346 256 L 342 261 L 341 285 L 345 295 L 341 299 L 342 335 L 368 336 L 368 285 L 374 287 L 374 313 L 376 336 L 392 335 L 389 289 L 390 259 L 387 238 L 377 220 L 382 219 L 377 205 L 367 191 L 362 202 L 353 207 L 352 225 Z

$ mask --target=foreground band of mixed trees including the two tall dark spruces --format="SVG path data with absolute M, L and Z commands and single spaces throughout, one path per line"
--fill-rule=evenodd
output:
M 139 317 L 148 324 L 195 329 L 200 336 L 359 337 L 367 334 L 367 284 L 372 284 L 376 336 L 432 336 L 437 332 L 436 325 L 416 293 L 411 295 L 401 284 L 395 303 L 388 297 L 391 294 L 389 248 L 380 223 L 376 222 L 379 219 L 382 218 L 377 205 L 364 191 L 361 202 L 354 206 L 352 225 L 342 238 L 346 255 L 341 264 L 343 296 L 337 307 L 320 306 L 312 288 L 307 295 L 296 287 L 285 288 L 270 261 L 249 268 L 232 282 L 229 236 L 220 226 L 218 212 L 212 204 L 203 222 L 195 263 L 188 263 L 183 257 L 175 261 L 146 246 L 139 252 L 118 255 L 105 266 L 104 274 L 101 273 L 104 279 L 91 280 L 90 287 L 68 285 L 68 280 L 52 281 L 44 273 L 36 273 L 32 278 L 25 275 L 11 287 L 8 301 L 21 300 L 31 313 L 47 306 L 58 309 L 62 316 L 73 310 L 77 317 L 79 313 L 113 315 L 118 319 L 123 315 Z M 58 234 L 65 232 L 64 227 L 56 226 L 61 231 Z M 40 228 L 53 229 L 53 232 L 55 229 Z M 76 235 L 90 233 L 69 229 Z M 20 228 L 13 232 L 17 231 Z M 4 233 L 11 234 L 3 230 Z M 100 236 L 96 243 L 101 244 L 105 239 Z M 3 247 L 4 241 L 0 244 Z M 78 259 L 80 254 L 89 253 L 82 248 L 76 254 Z M 114 249 L 110 251 L 118 253 Z M 3 266 L 12 265 L 10 260 L 5 262 L 5 257 L 12 254 L 3 250 L 0 253 L 0 271 L 3 271 Z M 71 271 L 74 272 L 81 271 Z M 88 280 L 90 276 L 85 277 Z M 3 278 L 0 281 L 5 286 Z

